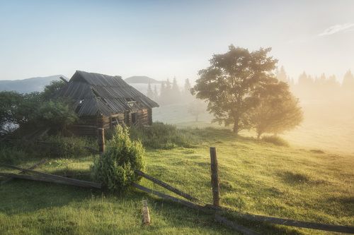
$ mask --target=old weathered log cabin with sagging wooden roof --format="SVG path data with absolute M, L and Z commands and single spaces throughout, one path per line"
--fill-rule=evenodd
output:
M 98 128 L 125 124 L 151 126 L 159 104 L 125 83 L 120 76 L 76 71 L 57 97 L 72 100 L 79 121 L 69 131 L 97 135 Z

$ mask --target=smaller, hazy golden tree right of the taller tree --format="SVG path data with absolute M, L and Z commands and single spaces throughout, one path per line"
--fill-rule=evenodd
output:
M 260 103 L 251 114 L 251 123 L 256 129 L 258 139 L 263 133 L 276 135 L 301 123 L 302 109 L 287 83 L 275 82 L 263 85 L 258 95 Z

